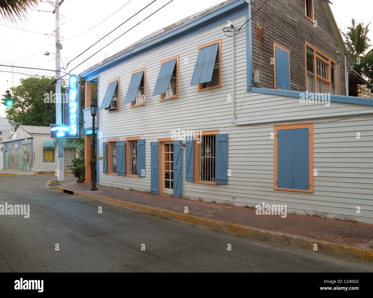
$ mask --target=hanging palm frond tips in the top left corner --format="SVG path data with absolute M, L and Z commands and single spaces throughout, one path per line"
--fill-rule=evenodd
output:
M 0 0 L 0 16 L 15 22 L 27 15 L 27 9 L 38 6 L 37 0 Z

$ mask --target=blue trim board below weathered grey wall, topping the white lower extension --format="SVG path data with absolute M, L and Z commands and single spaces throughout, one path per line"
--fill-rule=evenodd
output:
M 247 90 L 247 91 L 249 91 L 249 90 Z M 273 94 L 273 95 L 280 95 L 280 96 L 289 96 L 289 97 L 297 97 L 297 98 L 300 97 L 300 95 L 299 95 L 300 93 L 305 93 L 305 91 L 279 90 L 279 89 L 258 88 L 258 87 L 251 88 L 250 92 L 263 93 L 263 94 Z M 308 93 L 314 93 L 314 92 L 308 92 Z M 332 102 L 354 103 L 354 104 L 357 104 L 357 105 L 373 106 L 373 100 L 365 99 L 363 97 L 330 94 L 330 101 L 332 101 Z

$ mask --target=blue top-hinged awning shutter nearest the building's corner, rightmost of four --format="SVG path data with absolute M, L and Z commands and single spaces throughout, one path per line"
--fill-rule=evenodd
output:
M 219 44 L 210 45 L 202 48 L 198 52 L 197 61 L 195 62 L 194 71 L 191 80 L 191 86 L 201 83 L 210 82 L 216 60 L 216 54 Z

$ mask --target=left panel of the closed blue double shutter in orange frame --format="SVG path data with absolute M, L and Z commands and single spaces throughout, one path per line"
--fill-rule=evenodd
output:
M 293 188 L 293 134 L 291 129 L 277 131 L 277 187 Z

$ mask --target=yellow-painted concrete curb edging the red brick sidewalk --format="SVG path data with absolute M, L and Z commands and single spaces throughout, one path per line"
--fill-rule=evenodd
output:
M 51 181 L 51 180 L 50 180 Z M 49 182 L 49 181 L 48 181 Z M 47 183 L 48 184 L 48 183 Z M 257 240 L 268 241 L 272 243 L 280 243 L 285 245 L 300 246 L 308 249 L 313 249 L 314 244 L 317 244 L 317 250 L 327 251 L 335 254 L 343 254 L 345 256 L 357 257 L 363 260 L 373 261 L 373 249 L 364 249 L 339 243 L 333 243 L 324 240 L 316 240 L 307 237 L 301 237 L 291 234 L 279 233 L 275 231 L 262 230 L 258 228 L 246 227 L 243 225 L 232 224 L 230 222 L 211 220 L 190 214 L 179 213 L 166 209 L 156 208 L 152 206 L 141 205 L 119 199 L 109 198 L 106 196 L 95 195 L 93 193 L 85 193 L 59 186 L 50 187 L 60 190 L 71 195 L 83 196 L 85 198 L 94 199 L 107 204 L 120 206 L 133 211 L 151 214 L 169 220 L 179 221 L 186 224 L 197 225 L 200 227 L 210 228 L 216 231 L 231 233 L 243 237 L 254 238 Z

